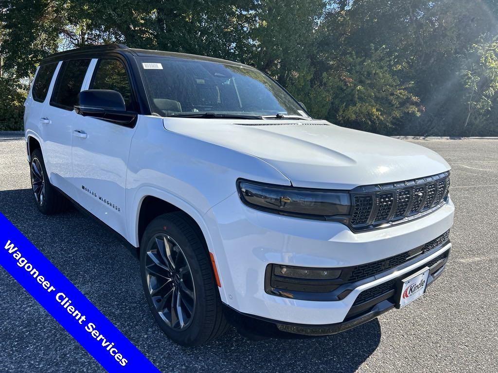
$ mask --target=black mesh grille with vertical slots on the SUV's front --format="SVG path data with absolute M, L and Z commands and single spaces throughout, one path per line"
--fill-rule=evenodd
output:
M 357 187 L 351 191 L 350 227 L 355 231 L 381 228 L 429 214 L 448 195 L 450 173 L 392 184 Z

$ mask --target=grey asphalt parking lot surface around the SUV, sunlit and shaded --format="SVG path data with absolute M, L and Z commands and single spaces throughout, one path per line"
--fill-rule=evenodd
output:
M 208 346 L 171 343 L 149 314 L 138 262 L 77 210 L 38 212 L 22 137 L 0 134 L 0 211 L 162 372 L 497 372 L 498 140 L 412 140 L 452 166 L 452 255 L 426 295 L 341 334 Z M 0 372 L 103 372 L 0 269 Z

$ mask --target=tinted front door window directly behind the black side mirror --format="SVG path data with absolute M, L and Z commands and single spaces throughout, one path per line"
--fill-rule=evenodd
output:
M 90 89 L 117 91 L 123 96 L 126 109 L 131 109 L 131 88 L 124 65 L 120 61 L 100 60 Z

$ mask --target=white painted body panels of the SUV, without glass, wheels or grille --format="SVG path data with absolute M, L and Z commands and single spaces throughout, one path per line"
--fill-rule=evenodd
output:
M 95 65 L 92 60 L 82 90 L 88 89 Z M 33 137 L 40 143 L 50 183 L 136 247 L 146 196 L 185 211 L 198 223 L 216 258 L 222 301 L 241 312 L 301 324 L 342 322 L 362 290 L 388 278 L 364 284 L 341 301 L 295 300 L 264 291 L 266 265 L 345 267 L 373 262 L 425 244 L 453 224 L 454 206 L 448 199 L 420 219 L 353 233 L 339 222 L 254 210 L 242 203 L 236 189 L 239 178 L 352 189 L 450 169 L 421 146 L 325 121 L 244 126 L 240 124 L 255 121 L 139 115 L 134 128 L 128 128 L 51 106 L 56 74 L 45 102 L 34 101 L 30 92 L 25 104 L 26 141 Z M 271 123 L 282 120 L 265 120 Z

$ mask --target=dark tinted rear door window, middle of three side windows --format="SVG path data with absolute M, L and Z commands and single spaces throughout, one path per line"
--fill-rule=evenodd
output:
M 78 93 L 81 91 L 90 60 L 70 60 L 62 63 L 51 104 L 63 106 L 69 110 L 78 103 Z

